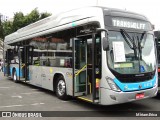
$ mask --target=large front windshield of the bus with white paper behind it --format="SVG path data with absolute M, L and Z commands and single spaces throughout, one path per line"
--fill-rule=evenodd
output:
M 109 31 L 109 68 L 120 74 L 153 72 L 156 68 L 154 37 L 147 33 Z

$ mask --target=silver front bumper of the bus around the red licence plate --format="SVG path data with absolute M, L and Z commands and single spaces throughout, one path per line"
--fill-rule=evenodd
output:
M 112 104 L 132 102 L 136 100 L 154 97 L 157 95 L 157 92 L 158 92 L 157 86 L 151 89 L 133 91 L 133 92 L 116 92 L 113 90 L 101 88 L 100 104 L 112 105 Z M 144 97 L 140 99 L 136 99 L 137 94 L 144 94 Z

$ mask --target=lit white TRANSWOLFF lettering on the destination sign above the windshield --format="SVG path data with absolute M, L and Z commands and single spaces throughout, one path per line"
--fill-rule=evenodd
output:
M 125 27 L 125 28 L 132 28 L 132 29 L 147 29 L 147 23 L 144 21 L 138 20 L 131 20 L 131 19 L 119 19 L 119 18 L 112 18 L 112 25 L 115 27 Z

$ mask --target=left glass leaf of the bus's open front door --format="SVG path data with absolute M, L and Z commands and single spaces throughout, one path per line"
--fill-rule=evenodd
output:
M 73 96 L 87 94 L 87 41 L 73 39 Z

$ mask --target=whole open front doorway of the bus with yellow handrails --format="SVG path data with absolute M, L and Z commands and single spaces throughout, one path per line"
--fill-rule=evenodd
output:
M 73 96 L 88 102 L 99 102 L 101 75 L 100 35 L 83 36 L 72 40 Z

